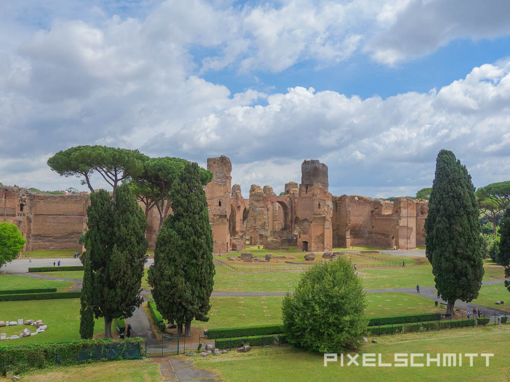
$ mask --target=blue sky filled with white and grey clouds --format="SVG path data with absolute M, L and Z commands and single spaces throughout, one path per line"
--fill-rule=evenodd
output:
M 452 150 L 475 186 L 510 179 L 507 0 L 6 0 L 0 182 L 74 186 L 74 145 L 136 148 L 233 183 L 415 195 Z M 99 179 L 95 179 L 99 185 Z

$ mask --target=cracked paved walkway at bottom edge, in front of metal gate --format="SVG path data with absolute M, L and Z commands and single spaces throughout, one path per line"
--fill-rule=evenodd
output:
M 217 382 L 221 379 L 214 373 L 197 369 L 191 361 L 181 357 L 162 357 L 158 359 L 163 382 Z

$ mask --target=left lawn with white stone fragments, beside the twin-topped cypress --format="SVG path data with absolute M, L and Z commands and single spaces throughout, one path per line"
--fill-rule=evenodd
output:
M 0 302 L 2 320 L 17 321 L 41 319 L 48 325 L 44 333 L 34 337 L 19 338 L 17 340 L 3 341 L 2 345 L 12 346 L 34 342 L 65 342 L 80 339 L 80 299 L 52 299 L 37 301 L 8 301 Z M 0 328 L 2 333 L 19 334 L 24 328 L 31 331 L 34 326 L 7 326 Z M 95 321 L 94 334 L 104 333 L 105 322 L 103 318 Z

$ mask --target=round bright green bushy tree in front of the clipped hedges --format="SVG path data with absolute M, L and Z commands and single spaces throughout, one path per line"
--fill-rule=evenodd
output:
M 303 272 L 282 302 L 287 341 L 318 353 L 355 350 L 363 343 L 365 293 L 350 261 L 339 258 Z

